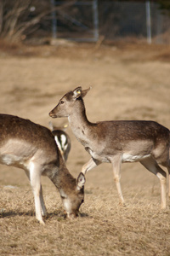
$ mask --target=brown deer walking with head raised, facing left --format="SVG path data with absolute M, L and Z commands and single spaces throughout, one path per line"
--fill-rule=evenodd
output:
M 167 173 L 161 166 L 167 168 L 170 183 L 169 130 L 151 120 L 106 120 L 92 123 L 88 121 L 83 102 L 89 90 L 90 87 L 82 90 L 79 86 L 67 92 L 49 113 L 52 118 L 67 117 L 77 140 L 91 155 L 90 160 L 82 166 L 82 173 L 85 175 L 103 162 L 111 163 L 120 204 L 125 205 L 120 183 L 122 163 L 140 162 L 160 180 L 161 209 L 165 209 Z

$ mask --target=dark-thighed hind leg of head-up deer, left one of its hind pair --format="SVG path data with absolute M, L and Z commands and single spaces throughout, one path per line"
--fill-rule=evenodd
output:
M 161 209 L 166 208 L 166 172 L 156 163 L 156 160 L 147 158 L 141 160 L 140 163 L 150 172 L 154 173 L 161 183 Z

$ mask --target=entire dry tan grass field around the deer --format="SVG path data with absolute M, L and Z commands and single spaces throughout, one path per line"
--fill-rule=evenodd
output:
M 90 121 L 151 119 L 170 127 L 170 47 L 147 44 L 0 44 L 0 111 L 48 126 L 49 111 L 68 90 L 84 98 Z M 88 153 L 67 129 L 74 177 Z M 42 187 L 48 218 L 37 223 L 25 172 L 0 170 L 1 255 L 170 255 L 170 201 L 161 210 L 160 183 L 139 163 L 122 165 L 119 205 L 111 165 L 86 175 L 85 202 L 77 219 L 64 218 L 59 192 L 47 177 Z

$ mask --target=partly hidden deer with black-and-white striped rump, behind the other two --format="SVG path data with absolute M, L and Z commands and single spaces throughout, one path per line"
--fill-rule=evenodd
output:
M 52 124 L 52 122 L 49 122 L 49 128 L 52 131 L 55 142 L 57 143 L 60 153 L 66 162 L 71 151 L 71 139 L 65 132 L 67 125 L 64 127 L 56 127 Z

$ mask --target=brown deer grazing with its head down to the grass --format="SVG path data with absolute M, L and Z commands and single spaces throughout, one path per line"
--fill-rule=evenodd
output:
M 82 173 L 77 179 L 72 177 L 48 128 L 29 119 L 1 113 L 0 163 L 19 167 L 26 172 L 34 195 L 36 218 L 40 224 L 45 224 L 42 216 L 47 216 L 41 176 L 47 176 L 59 190 L 66 216 L 77 217 L 84 201 L 85 177 Z

